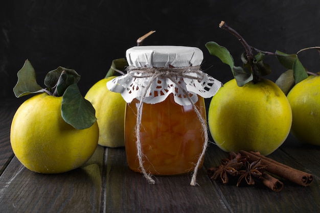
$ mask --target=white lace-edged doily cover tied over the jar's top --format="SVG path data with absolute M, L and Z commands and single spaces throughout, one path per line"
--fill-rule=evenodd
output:
M 214 96 L 222 86 L 220 81 L 199 70 L 203 53 L 198 48 L 134 46 L 127 50 L 126 57 L 128 73 L 108 81 L 107 88 L 121 93 L 127 103 L 137 99 L 156 104 L 172 93 L 177 104 L 187 106 L 198 101 L 197 95 Z M 158 72 L 162 69 L 166 72 Z M 175 69 L 179 72 L 172 72 Z M 149 72 L 147 75 L 146 71 Z M 190 95 L 186 96 L 186 93 Z

